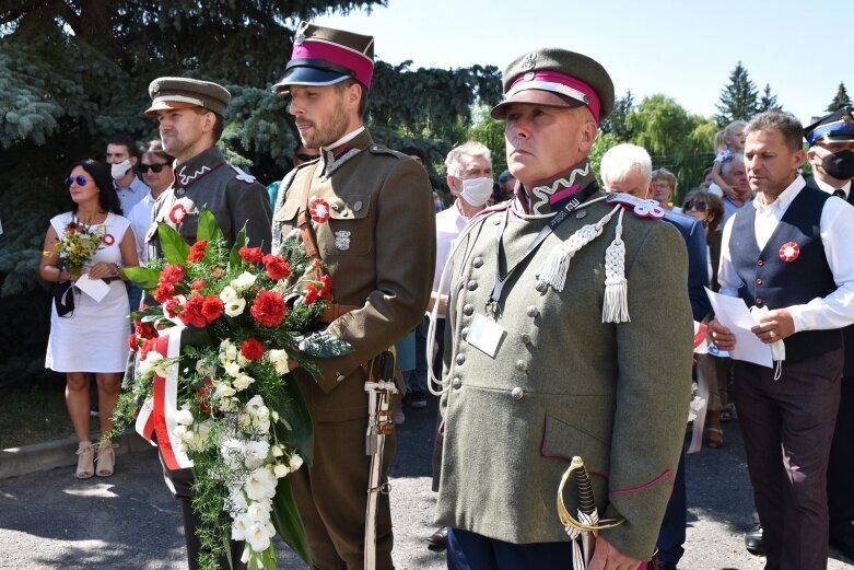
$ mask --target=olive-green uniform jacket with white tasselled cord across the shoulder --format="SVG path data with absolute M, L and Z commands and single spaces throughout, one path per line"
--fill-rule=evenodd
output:
M 603 532 L 648 560 L 670 497 L 691 385 L 691 307 L 682 237 L 669 223 L 623 216 L 629 323 L 603 323 L 605 251 L 615 219 L 572 257 L 562 292 L 535 288 L 555 245 L 613 209 L 596 193 L 508 278 L 493 357 L 465 338 L 488 316 L 504 212 L 476 218 L 452 257 L 443 379 L 447 392 L 436 522 L 514 543 L 569 540 L 558 519 L 561 476 L 574 455 L 590 472 Z M 548 220 L 507 217 L 502 272 Z M 452 348 L 453 342 L 453 348 Z M 577 501 L 568 486 L 573 514 Z

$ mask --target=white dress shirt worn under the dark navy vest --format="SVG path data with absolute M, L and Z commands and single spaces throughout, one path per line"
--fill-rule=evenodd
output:
M 770 205 L 763 203 L 761 193 L 753 199 L 751 203 L 757 210 L 753 231 L 760 249 L 768 244 L 780 220 L 805 186 L 804 177 L 797 176 Z M 729 296 L 738 296 L 738 288 L 741 284 L 729 255 L 729 235 L 733 232 L 734 219 L 735 216 L 724 226 L 721 266 L 717 271 L 721 293 Z M 854 207 L 841 198 L 831 197 L 821 210 L 819 233 L 837 290 L 823 299 L 816 298 L 806 304 L 787 307 L 796 333 L 842 328 L 854 324 Z

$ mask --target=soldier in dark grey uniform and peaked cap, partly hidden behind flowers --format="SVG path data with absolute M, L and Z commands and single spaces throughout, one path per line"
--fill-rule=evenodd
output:
M 163 149 L 175 156 L 175 179 L 154 203 L 154 222 L 166 222 L 187 241 L 195 243 L 199 212 L 208 208 L 229 244 L 246 226 L 249 244 L 270 248 L 270 203 L 266 188 L 253 176 L 229 164 L 217 147 L 223 129 L 225 108 L 231 95 L 225 88 L 209 81 L 187 78 L 159 78 L 149 85 L 151 107 L 145 115 L 160 121 Z M 145 241 L 149 259 L 161 255 L 157 224 L 153 223 Z M 180 502 L 184 538 L 189 568 L 198 568 L 198 519 L 192 511 L 191 468 L 163 467 L 166 485 Z M 235 543 L 233 556 L 237 568 L 243 547 Z M 230 568 L 221 560 L 222 568 Z

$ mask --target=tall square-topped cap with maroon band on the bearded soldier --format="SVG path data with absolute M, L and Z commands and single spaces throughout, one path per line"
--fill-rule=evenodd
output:
M 270 89 L 288 93 L 291 85 L 334 85 L 352 78 L 370 90 L 373 73 L 373 36 L 301 22 L 284 77 Z

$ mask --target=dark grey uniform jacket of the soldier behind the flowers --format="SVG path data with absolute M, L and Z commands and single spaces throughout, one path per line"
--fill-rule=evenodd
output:
M 152 217 L 176 228 L 187 243 L 196 242 L 199 212 L 208 208 L 217 218 L 225 241 L 233 244 L 246 225 L 249 245 L 270 249 L 270 200 L 255 178 L 225 162 L 211 147 L 183 164 L 175 164 L 172 186 L 157 198 Z M 149 230 L 149 258 L 159 255 L 156 223 Z

